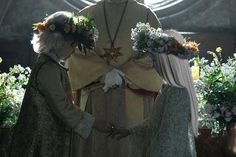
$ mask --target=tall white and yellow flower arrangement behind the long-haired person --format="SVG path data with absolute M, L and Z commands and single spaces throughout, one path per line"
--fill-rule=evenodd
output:
M 195 82 L 199 120 L 219 134 L 227 124 L 236 122 L 236 54 L 224 63 L 220 47 L 208 53 L 211 62 L 199 56 L 193 59 L 200 67 L 200 79 Z

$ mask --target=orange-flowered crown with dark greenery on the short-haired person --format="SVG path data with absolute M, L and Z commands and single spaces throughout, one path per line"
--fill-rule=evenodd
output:
M 33 24 L 33 30 L 36 33 L 59 32 L 65 39 L 73 40 L 73 44 L 76 44 L 80 51 L 85 53 L 87 49 L 94 48 L 98 38 L 98 31 L 93 18 L 91 16 L 76 16 L 73 13 L 65 23 L 38 22 Z

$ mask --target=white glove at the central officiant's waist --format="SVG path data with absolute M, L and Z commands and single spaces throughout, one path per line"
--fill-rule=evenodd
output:
M 125 74 L 118 70 L 118 69 L 112 69 L 110 72 L 108 72 L 105 75 L 105 79 L 104 79 L 104 87 L 102 88 L 104 90 L 104 92 L 107 92 L 110 88 L 114 87 L 114 86 L 121 86 L 123 83 L 123 77 L 125 76 Z

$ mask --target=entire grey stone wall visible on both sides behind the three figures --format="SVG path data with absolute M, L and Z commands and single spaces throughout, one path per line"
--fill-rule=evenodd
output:
M 195 1 L 194 1 L 195 2 Z M 79 11 L 83 7 L 80 0 L 1 0 L 0 1 L 0 56 L 5 56 L 11 64 L 31 65 L 34 53 L 30 45 L 32 23 L 41 21 L 46 14 L 59 10 Z M 235 49 L 236 0 L 196 0 L 184 9 L 175 8 L 173 14 L 162 16 L 156 11 L 163 28 L 173 28 L 194 37 L 203 46 L 203 51 L 223 46 L 231 55 Z M 168 10 L 167 10 L 168 11 Z M 216 40 L 215 40 L 216 39 Z M 206 42 L 207 41 L 207 42 Z M 14 56 L 10 62 L 9 57 Z

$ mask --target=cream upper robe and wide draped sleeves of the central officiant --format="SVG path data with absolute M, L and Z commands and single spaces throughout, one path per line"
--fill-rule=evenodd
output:
M 124 7 L 123 3 L 106 3 L 106 12 L 108 25 L 112 38 L 114 37 L 121 12 Z M 155 14 L 142 4 L 134 0 L 129 0 L 128 6 L 122 20 L 115 47 L 121 47 L 123 56 L 118 58 L 118 62 L 111 62 L 107 65 L 100 56 L 104 54 L 103 48 L 110 47 L 110 41 L 106 30 L 105 19 L 103 14 L 103 1 L 98 2 L 85 8 L 80 12 L 82 15 L 91 15 L 95 19 L 96 27 L 99 31 L 99 38 L 95 47 L 95 54 L 84 56 L 77 51 L 69 59 L 70 78 L 72 89 L 81 89 L 90 84 L 100 76 L 106 74 L 112 68 L 118 68 L 125 73 L 126 78 L 133 82 L 141 89 L 157 91 L 160 89 L 161 81 L 156 71 L 152 68 L 152 61 L 149 57 L 134 59 L 136 56 L 132 50 L 133 42 L 130 39 L 131 28 L 134 28 L 137 22 L 148 21 L 153 27 L 160 26 Z M 148 19 L 147 19 L 148 18 Z M 145 76 L 145 77 L 143 77 Z

